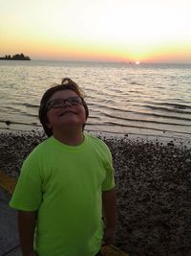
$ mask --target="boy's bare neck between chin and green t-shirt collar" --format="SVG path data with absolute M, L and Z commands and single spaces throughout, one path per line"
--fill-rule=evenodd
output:
M 80 145 L 84 140 L 83 131 L 80 130 L 76 132 L 76 130 L 62 130 L 61 132 L 54 131 L 53 137 L 60 141 L 63 144 L 66 144 L 68 146 L 78 146 Z

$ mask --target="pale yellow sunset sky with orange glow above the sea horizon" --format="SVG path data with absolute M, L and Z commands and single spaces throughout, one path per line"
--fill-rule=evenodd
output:
M 190 0 L 0 0 L 0 56 L 191 63 Z

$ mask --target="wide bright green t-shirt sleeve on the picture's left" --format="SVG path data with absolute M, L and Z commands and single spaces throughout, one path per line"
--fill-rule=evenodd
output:
M 39 164 L 31 154 L 24 161 L 10 206 L 21 211 L 36 211 L 42 200 Z

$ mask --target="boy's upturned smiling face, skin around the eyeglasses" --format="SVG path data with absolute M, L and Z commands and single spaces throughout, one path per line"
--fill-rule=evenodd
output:
M 78 95 L 72 90 L 61 90 L 53 94 L 49 103 L 56 99 L 67 100 L 71 97 L 78 97 Z M 53 102 L 52 102 L 53 103 Z M 85 108 L 82 104 L 72 105 L 69 102 L 65 102 L 60 107 L 50 107 L 47 112 L 49 124 L 48 128 L 60 129 L 78 127 L 82 128 L 86 122 Z

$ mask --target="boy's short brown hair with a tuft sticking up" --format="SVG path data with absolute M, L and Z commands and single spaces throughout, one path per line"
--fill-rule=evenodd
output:
M 49 88 L 44 93 L 44 95 L 42 96 L 42 99 L 40 101 L 38 117 L 39 117 L 40 123 L 42 124 L 42 126 L 45 130 L 45 133 L 48 135 L 48 137 L 53 135 L 53 130 L 51 128 L 47 127 L 47 124 L 49 123 L 49 120 L 47 118 L 47 110 L 48 110 L 47 104 L 48 104 L 49 100 L 51 99 L 51 97 L 53 96 L 53 94 L 56 91 L 61 91 L 61 90 L 74 91 L 82 99 L 82 105 L 85 108 L 86 120 L 88 119 L 88 116 L 89 116 L 88 105 L 86 104 L 86 102 L 83 99 L 83 93 L 82 93 L 81 89 L 79 88 L 79 86 L 69 78 L 63 79 L 61 81 L 61 84 L 56 84 L 55 86 Z M 83 129 L 84 129 L 84 127 L 85 127 L 85 124 L 83 124 Z

